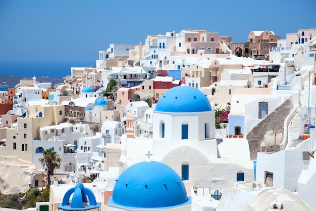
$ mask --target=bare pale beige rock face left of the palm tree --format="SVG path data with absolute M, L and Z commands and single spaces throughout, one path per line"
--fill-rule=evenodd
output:
M 25 193 L 35 172 L 35 165 L 0 163 L 0 191 L 3 194 Z

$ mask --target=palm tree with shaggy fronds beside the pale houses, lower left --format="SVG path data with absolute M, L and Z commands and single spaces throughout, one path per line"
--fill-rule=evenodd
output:
M 57 152 L 52 151 L 51 148 L 49 148 L 43 152 L 43 157 L 38 158 L 38 160 L 41 162 L 43 168 L 45 168 L 45 171 L 47 172 L 47 182 L 50 185 L 50 176 L 54 175 L 54 170 L 58 165 L 61 164 L 62 159 L 59 157 Z

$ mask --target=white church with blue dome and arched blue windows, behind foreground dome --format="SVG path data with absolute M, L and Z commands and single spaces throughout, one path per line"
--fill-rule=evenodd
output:
M 121 172 L 146 160 L 150 151 L 151 159 L 170 166 L 191 193 L 193 187 L 214 192 L 254 180 L 247 140 L 216 138 L 215 110 L 189 86 L 174 87 L 159 99 L 151 139 L 122 137 L 121 149 Z

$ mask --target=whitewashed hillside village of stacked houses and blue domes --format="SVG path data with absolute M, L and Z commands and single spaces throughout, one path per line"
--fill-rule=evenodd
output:
M 76 187 L 96 210 L 315 210 L 315 33 L 147 35 L 62 84 L 20 80 L 0 92 L 0 191 L 46 187 L 50 148 L 49 211 Z

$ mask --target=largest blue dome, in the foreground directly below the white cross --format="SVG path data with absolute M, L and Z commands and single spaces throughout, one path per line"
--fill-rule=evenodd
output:
M 188 201 L 179 175 L 161 162 L 139 162 L 125 170 L 114 186 L 114 203 L 130 207 L 154 208 Z

